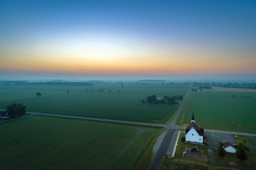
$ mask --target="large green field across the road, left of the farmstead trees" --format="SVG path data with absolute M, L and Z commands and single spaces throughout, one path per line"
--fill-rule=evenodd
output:
M 0 108 L 22 103 L 30 112 L 165 123 L 178 105 L 149 105 L 142 104 L 141 100 L 150 95 L 185 96 L 188 88 L 189 85 L 171 84 L 124 84 L 124 87 L 121 84 L 90 87 L 3 86 L 0 87 Z M 98 91 L 101 89 L 103 92 Z M 67 90 L 70 90 L 69 94 Z M 37 91 L 42 97 L 36 97 Z

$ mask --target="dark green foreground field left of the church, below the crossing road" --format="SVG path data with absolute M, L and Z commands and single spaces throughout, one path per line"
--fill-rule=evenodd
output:
M 151 159 L 150 143 L 161 131 L 47 116 L 0 127 L 1 169 L 141 169 L 140 159 Z

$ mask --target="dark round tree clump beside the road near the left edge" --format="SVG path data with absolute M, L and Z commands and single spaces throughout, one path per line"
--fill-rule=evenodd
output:
M 17 117 L 17 116 L 25 115 L 26 106 L 23 105 L 23 104 L 13 103 L 11 105 L 6 106 L 6 111 L 9 114 L 10 118 L 14 118 L 14 117 Z

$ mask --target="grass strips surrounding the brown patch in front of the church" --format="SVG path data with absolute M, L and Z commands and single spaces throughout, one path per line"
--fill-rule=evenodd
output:
M 181 142 L 181 138 L 183 137 L 183 135 L 184 134 L 182 134 L 182 133 L 180 134 L 179 141 L 178 141 L 178 146 L 177 146 L 177 149 L 175 151 L 174 158 L 170 158 L 170 165 L 169 165 L 169 158 L 163 158 L 161 168 L 159 168 L 159 169 L 174 170 L 176 161 L 178 161 L 179 163 L 180 162 L 184 162 L 184 163 L 187 162 L 189 164 L 189 166 L 190 165 L 192 166 L 193 170 L 196 170 L 196 166 L 195 166 L 196 164 L 197 165 L 202 165 L 204 168 L 207 166 L 207 167 L 209 167 L 209 169 L 223 169 L 223 167 L 214 166 L 214 165 L 210 164 L 210 160 L 209 160 L 208 151 L 207 151 L 206 146 Z M 204 151 L 204 155 L 207 157 L 207 162 L 182 157 L 183 151 L 185 151 L 186 147 L 191 148 L 191 147 L 195 147 L 195 146 L 197 146 L 198 149 L 202 149 Z M 225 169 L 233 169 L 233 168 L 226 168 L 225 167 Z

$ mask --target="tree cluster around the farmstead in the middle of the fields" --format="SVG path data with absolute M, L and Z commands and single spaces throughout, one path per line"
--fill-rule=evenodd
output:
M 173 97 L 164 96 L 164 99 L 157 99 L 156 95 L 148 96 L 145 100 L 141 100 L 142 103 L 149 103 L 149 104 L 178 104 L 175 100 L 182 100 L 182 95 L 177 95 Z

